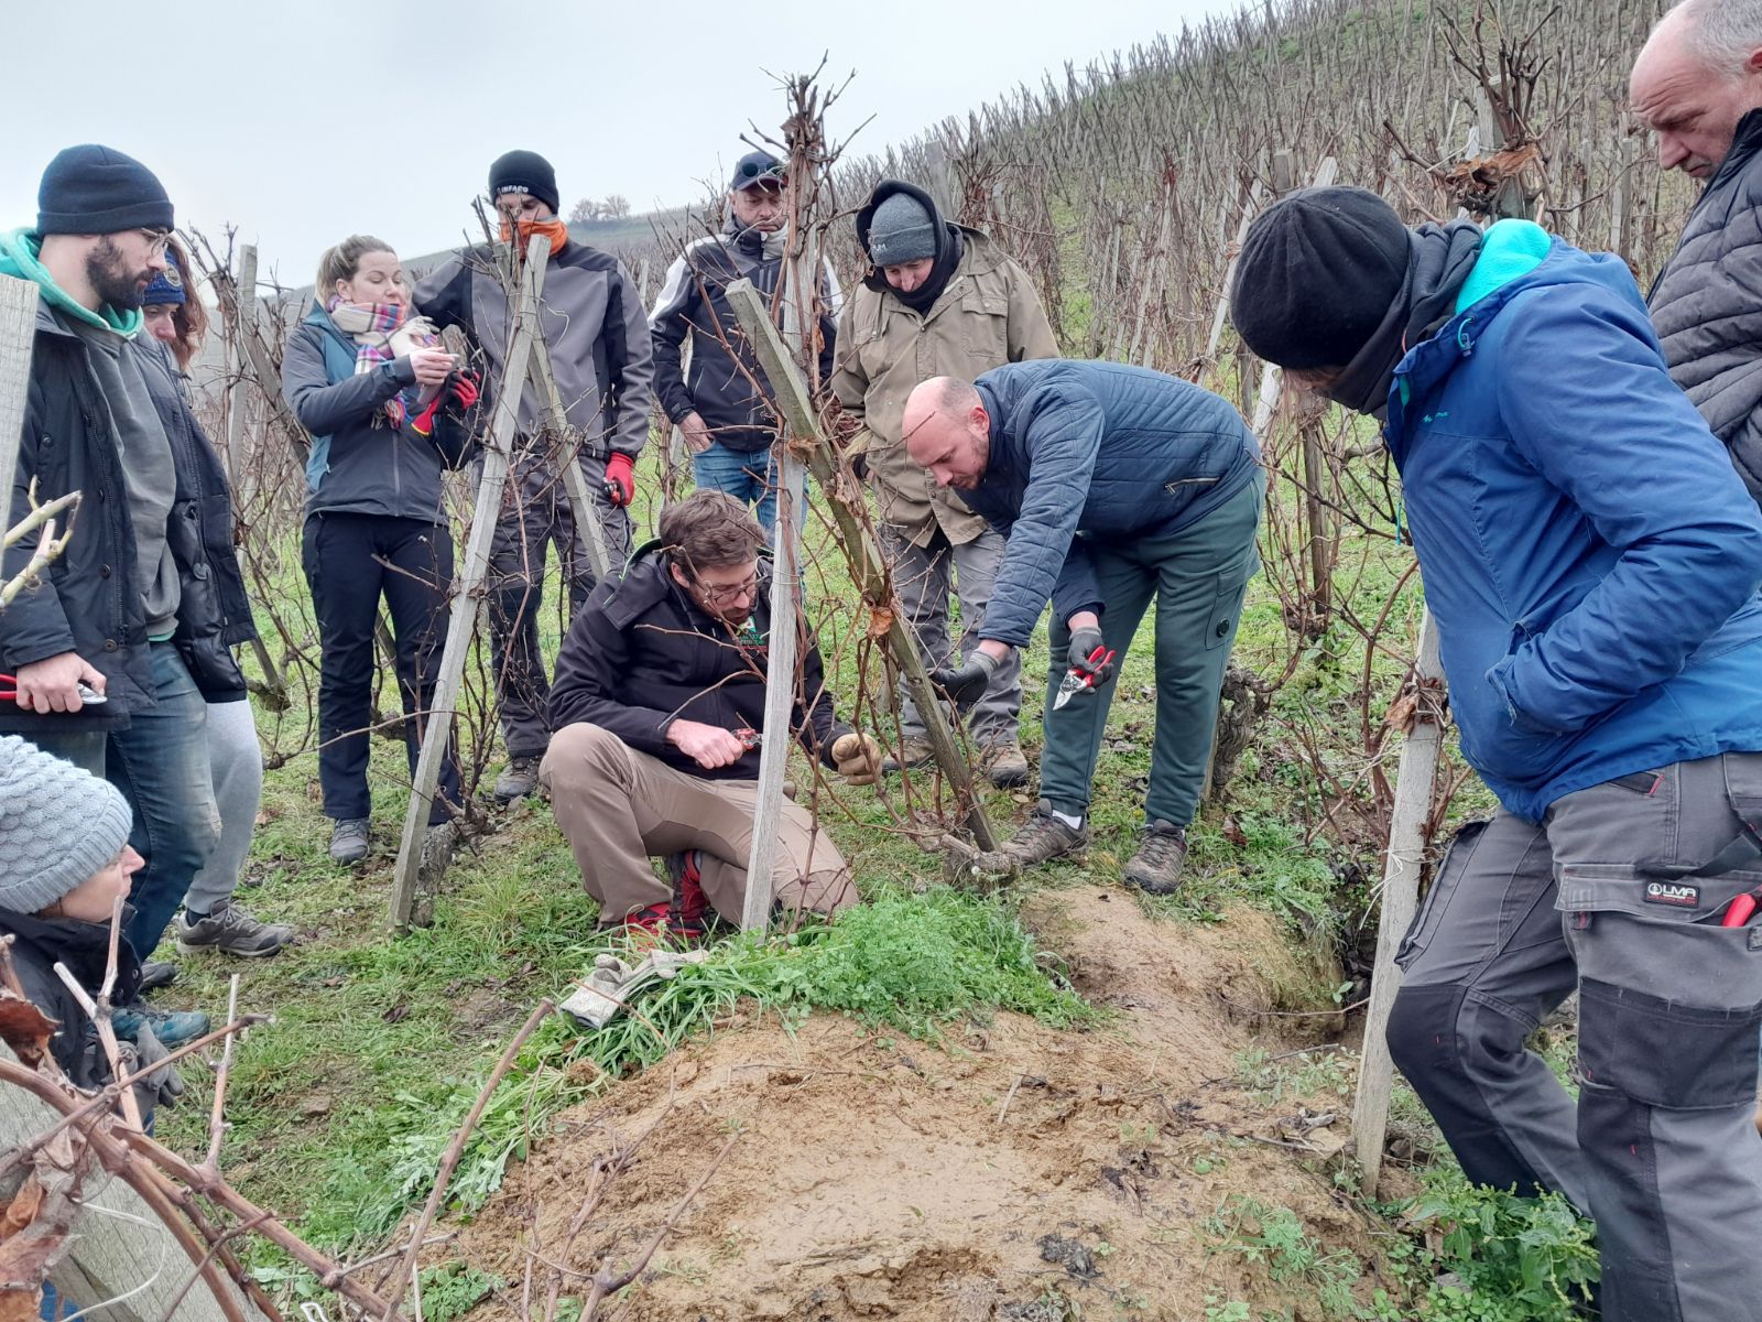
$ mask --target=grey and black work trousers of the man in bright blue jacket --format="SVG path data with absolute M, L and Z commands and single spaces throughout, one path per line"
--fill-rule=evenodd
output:
M 1401 1072 L 1470 1179 L 1558 1190 L 1596 1222 L 1605 1322 L 1762 1317 L 1755 1130 L 1762 922 L 1721 927 L 1762 857 L 1762 754 L 1464 827 L 1397 955 Z M 1741 851 L 1741 850 L 1739 850 Z M 1524 1038 L 1579 991 L 1579 1100 Z

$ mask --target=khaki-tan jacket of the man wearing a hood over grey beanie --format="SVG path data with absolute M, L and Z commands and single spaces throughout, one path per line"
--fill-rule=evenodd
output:
M 960 227 L 966 250 L 943 296 L 927 316 L 867 284 L 856 286 L 839 317 L 832 391 L 865 435 L 876 511 L 913 545 L 941 527 L 957 546 L 985 531 L 985 520 L 906 453 L 900 420 L 913 386 L 930 377 L 973 381 L 1024 358 L 1057 358 L 1052 323 L 1034 282 L 976 229 Z

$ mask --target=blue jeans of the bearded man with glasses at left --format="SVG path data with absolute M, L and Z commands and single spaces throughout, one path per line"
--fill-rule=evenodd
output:
M 213 772 L 208 765 L 208 703 L 169 642 L 152 643 L 153 694 L 127 730 L 44 735 L 44 753 L 104 776 L 122 790 L 134 813 L 129 843 L 146 858 L 134 874 L 129 902 L 134 918 L 123 936 L 141 959 L 153 954 L 183 892 L 203 871 L 220 839 Z

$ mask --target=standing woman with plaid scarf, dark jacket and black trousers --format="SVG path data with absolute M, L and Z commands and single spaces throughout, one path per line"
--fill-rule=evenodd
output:
M 453 532 L 442 472 L 465 458 L 474 382 L 411 316 L 389 243 L 354 234 L 319 261 L 314 307 L 289 337 L 282 390 L 312 432 L 301 561 L 322 652 L 319 784 L 331 858 L 366 857 L 368 732 L 374 723 L 374 624 L 384 598 L 396 638 L 398 693 L 411 774 L 446 640 Z M 458 804 L 449 754 L 430 816 Z

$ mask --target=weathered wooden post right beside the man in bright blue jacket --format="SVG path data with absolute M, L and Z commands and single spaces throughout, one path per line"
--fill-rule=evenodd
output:
M 1420 871 L 1425 865 L 1425 821 L 1431 818 L 1438 749 L 1443 744 L 1445 687 L 1438 659 L 1438 626 L 1431 612 L 1420 619 L 1418 654 L 1413 661 L 1413 728 L 1401 746 L 1396 772 L 1396 807 L 1388 820 L 1388 850 L 1383 855 L 1383 913 L 1376 929 L 1376 964 L 1371 969 L 1371 1006 L 1364 1021 L 1364 1056 L 1359 1089 L 1351 1102 L 1351 1142 L 1359 1156 L 1362 1188 L 1376 1195 L 1383 1174 L 1383 1135 L 1388 1128 L 1388 1091 L 1394 1061 L 1385 1031 L 1388 1012 L 1401 991 L 1396 950 L 1418 910 Z

